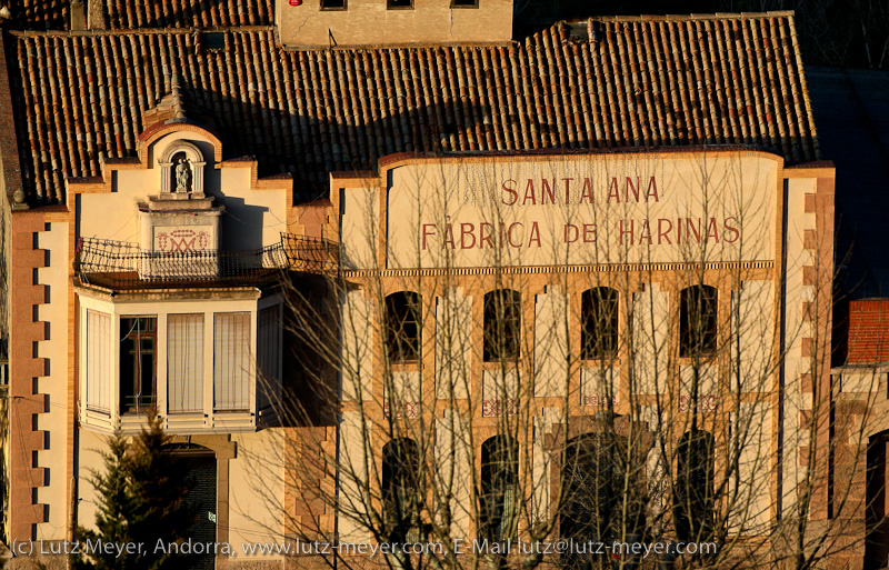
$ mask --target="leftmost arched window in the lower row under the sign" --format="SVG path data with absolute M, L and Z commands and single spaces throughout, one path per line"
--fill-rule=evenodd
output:
M 383 522 L 393 542 L 419 540 L 420 452 L 417 442 L 397 438 L 382 448 Z

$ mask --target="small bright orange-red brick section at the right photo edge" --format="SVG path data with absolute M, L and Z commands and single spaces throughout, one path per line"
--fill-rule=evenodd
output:
M 889 362 L 889 299 L 866 299 L 849 303 L 846 362 Z

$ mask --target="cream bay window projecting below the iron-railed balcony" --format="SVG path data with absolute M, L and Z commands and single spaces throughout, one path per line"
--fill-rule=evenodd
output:
M 129 302 L 81 296 L 80 306 L 84 427 L 138 433 L 149 413 L 171 433 L 254 431 L 277 423 L 278 296 Z M 221 308 L 227 310 L 214 310 Z

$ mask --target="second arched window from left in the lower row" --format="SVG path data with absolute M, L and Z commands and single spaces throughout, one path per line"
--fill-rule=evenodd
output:
M 481 537 L 515 538 L 519 503 L 519 444 L 510 436 L 495 436 L 481 444 Z

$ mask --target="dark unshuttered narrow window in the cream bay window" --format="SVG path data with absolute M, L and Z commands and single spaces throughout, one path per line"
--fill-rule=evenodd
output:
M 144 413 L 154 406 L 157 317 L 120 319 L 120 411 Z

